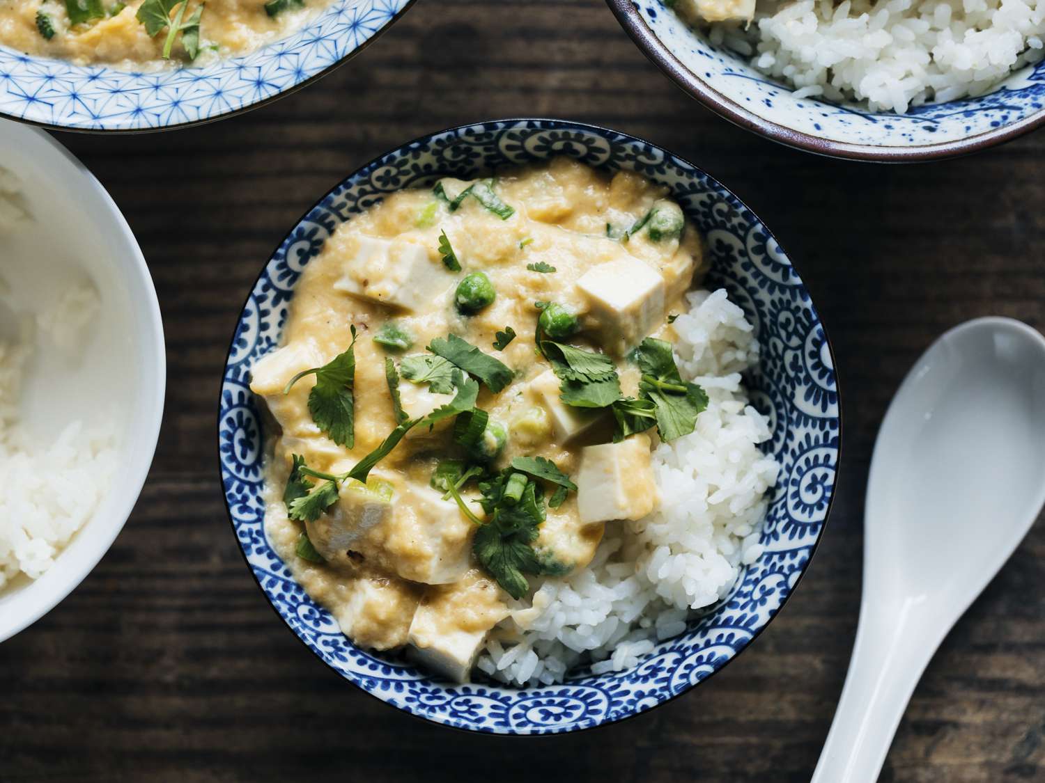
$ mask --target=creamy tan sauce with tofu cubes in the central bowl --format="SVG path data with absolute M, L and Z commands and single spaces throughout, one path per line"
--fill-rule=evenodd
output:
M 491 209 L 485 193 L 511 214 Z M 561 308 L 566 326 L 548 322 L 553 333 L 565 335 L 560 343 L 607 357 L 621 396 L 641 396 L 632 349 L 650 336 L 672 339 L 670 315 L 681 312 L 682 294 L 704 271 L 697 231 L 683 224 L 666 195 L 636 174 L 609 176 L 567 159 L 495 180 L 442 180 L 435 190 L 390 195 L 343 223 L 307 265 L 283 346 L 253 367 L 252 388 L 275 420 L 270 431 L 279 432 L 266 468 L 265 524 L 296 579 L 356 644 L 405 646 L 441 673 L 465 680 L 490 628 L 527 606 L 522 588 L 480 557 L 482 525 L 443 492 L 445 485 L 433 488 L 434 473 L 447 459 L 483 473 L 459 491 L 481 523 L 492 517 L 475 502 L 483 497 L 481 482 L 513 476 L 514 460 L 544 457 L 568 477 L 576 489 L 563 489 L 565 498 L 554 507 L 554 482 L 525 471 L 515 479 L 516 489 L 535 487 L 531 499 L 544 514 L 536 539 L 522 543 L 533 553 L 530 575 L 584 568 L 607 521 L 654 509 L 650 452 L 658 430 L 647 423 L 638 428 L 645 431 L 622 433 L 610 407 L 563 403 L 564 381 L 537 350 L 543 310 L 535 303 Z M 447 248 L 460 270 L 448 268 Z M 488 295 L 475 300 L 463 285 L 475 272 L 485 275 L 492 302 Z M 317 374 L 284 389 L 299 373 L 343 354 L 352 327 L 354 444 L 348 448 L 335 444 L 309 410 Z M 515 336 L 505 346 L 508 327 Z M 292 519 L 284 489 L 295 478 L 294 455 L 309 470 L 344 474 L 399 424 L 388 357 L 398 367 L 395 388 L 411 421 L 455 399 L 464 375 L 447 394 L 404 377 L 417 357 L 434 356 L 426 347 L 451 334 L 510 370 L 498 390 L 480 381 L 474 407 L 486 411 L 488 423 L 478 444 L 461 445 L 454 417 L 432 426 L 423 421 L 376 464 L 366 483 L 343 480 L 315 519 Z M 314 493 L 323 481 L 306 477 Z M 503 506 L 511 511 L 508 503 Z M 524 550 L 527 557 L 530 550 Z

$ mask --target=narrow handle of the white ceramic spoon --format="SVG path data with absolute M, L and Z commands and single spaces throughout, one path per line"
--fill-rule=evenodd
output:
M 874 602 L 865 596 L 863 607 Z M 841 701 L 811 783 L 878 779 L 914 686 L 939 643 L 936 623 L 925 623 L 918 607 L 878 603 L 861 609 Z

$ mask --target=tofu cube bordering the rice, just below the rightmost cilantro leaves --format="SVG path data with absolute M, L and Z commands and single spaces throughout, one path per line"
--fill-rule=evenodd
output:
M 581 522 L 641 519 L 656 503 L 649 435 L 632 435 L 621 443 L 586 446 L 581 450 L 577 472 L 577 511 Z

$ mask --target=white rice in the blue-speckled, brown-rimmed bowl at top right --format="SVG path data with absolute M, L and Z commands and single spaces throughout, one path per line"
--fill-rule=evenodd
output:
M 682 4 L 683 16 L 692 10 Z M 795 97 L 866 101 L 870 111 L 990 92 L 1045 56 L 1045 0 L 761 0 L 754 23 L 710 39 L 795 88 Z

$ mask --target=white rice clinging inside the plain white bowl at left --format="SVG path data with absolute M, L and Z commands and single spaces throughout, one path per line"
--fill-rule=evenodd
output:
M 26 222 L 16 193 L 17 181 L 0 168 L 0 236 Z M 5 293 L 0 281 L 0 296 Z M 34 579 L 47 571 L 113 480 L 112 423 L 88 431 L 82 422 L 71 422 L 53 443 L 42 444 L 18 414 L 33 353 L 62 351 L 75 360 L 76 337 L 98 306 L 93 287 L 73 287 L 36 318 L 23 316 L 16 339 L 0 340 L 0 588 L 19 574 Z

